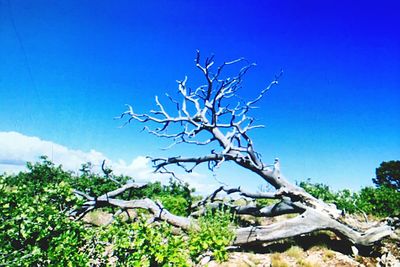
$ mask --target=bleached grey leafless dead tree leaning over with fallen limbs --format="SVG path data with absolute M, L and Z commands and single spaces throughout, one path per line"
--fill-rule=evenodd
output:
M 282 75 L 276 75 L 272 82 L 252 100 L 244 101 L 237 95 L 241 88 L 242 79 L 246 72 L 255 64 L 249 64 L 240 58 L 215 67 L 214 58 L 205 59 L 202 63 L 200 53 L 195 59 L 196 67 L 205 78 L 205 84 L 195 89 L 187 85 L 187 77 L 178 82 L 178 99 L 167 94 L 167 99 L 174 110 L 167 110 L 159 98 L 155 97 L 156 110 L 140 114 L 131 106 L 121 115 L 128 118 L 130 123 L 136 121 L 146 124 L 144 129 L 150 134 L 171 140 L 169 148 L 177 144 L 192 144 L 195 146 L 210 146 L 210 152 L 197 157 L 153 158 L 156 172 L 171 173 L 171 166 L 178 166 L 190 173 L 197 166 L 207 164 L 213 171 L 224 162 L 233 162 L 238 166 L 256 173 L 265 182 L 272 185 L 273 192 L 246 192 L 240 187 L 220 187 L 210 196 L 197 203 L 192 216 L 201 213 L 204 206 L 220 205 L 218 196 L 239 194 L 247 199 L 275 199 L 271 206 L 257 207 L 256 205 L 235 206 L 232 203 L 222 203 L 229 206 L 237 214 L 249 214 L 258 217 L 274 217 L 283 214 L 298 214 L 285 221 L 272 223 L 267 226 L 250 226 L 236 229 L 234 245 L 270 242 L 279 239 L 295 237 L 318 230 L 330 230 L 341 238 L 347 239 L 357 246 L 372 246 L 383 238 L 394 234 L 387 224 L 377 224 L 368 230 L 357 229 L 346 223 L 345 218 L 335 205 L 324 203 L 313 197 L 302 188 L 290 183 L 282 174 L 279 159 L 273 164 L 264 163 L 257 152 L 250 132 L 263 127 L 255 124 L 249 115 L 255 105 L 276 84 Z M 234 77 L 223 76 L 225 68 L 232 65 L 242 65 Z M 171 105 L 170 105 L 171 106 Z M 156 125 L 154 128 L 151 126 Z M 134 185 L 125 185 L 115 192 L 110 192 L 94 199 L 82 192 L 77 194 L 85 197 L 81 213 L 94 209 L 96 206 L 111 205 L 122 210 L 142 208 L 154 215 L 153 219 L 164 220 L 183 229 L 195 224 L 194 219 L 179 217 L 165 210 L 160 203 L 149 199 L 120 200 L 115 196 Z

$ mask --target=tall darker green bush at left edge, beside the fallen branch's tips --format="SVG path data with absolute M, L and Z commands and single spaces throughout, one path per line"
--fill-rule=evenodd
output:
M 85 228 L 64 213 L 79 205 L 70 174 L 46 158 L 28 168 L 0 177 L 0 265 L 85 265 Z

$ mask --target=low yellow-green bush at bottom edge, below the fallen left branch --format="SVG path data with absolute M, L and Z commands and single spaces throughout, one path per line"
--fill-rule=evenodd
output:
M 166 223 L 149 227 L 144 217 L 129 224 L 117 221 L 98 235 L 112 247 L 103 262 L 114 258 L 117 266 L 189 266 L 186 241 Z

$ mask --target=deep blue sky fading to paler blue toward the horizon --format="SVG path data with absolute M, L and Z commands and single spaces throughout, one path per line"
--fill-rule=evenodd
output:
M 199 49 L 220 63 L 238 57 L 257 63 L 244 98 L 284 70 L 254 112 L 266 125 L 252 135 L 265 162 L 279 157 L 292 181 L 371 185 L 380 162 L 400 158 L 399 7 L 397 1 L 0 0 L 0 133 L 19 133 L 27 142 L 3 135 L 9 146 L 0 147 L 7 163 L 0 171 L 43 151 L 28 137 L 96 151 L 96 159 L 114 165 L 195 153 L 195 147 L 160 151 L 166 143 L 141 133 L 142 125 L 121 129 L 113 117 L 126 103 L 141 112 L 154 108 L 154 96 L 175 93 L 175 80 L 185 75 L 199 85 L 193 61 Z M 207 176 L 200 183 L 215 182 Z M 232 166 L 218 179 L 262 184 Z

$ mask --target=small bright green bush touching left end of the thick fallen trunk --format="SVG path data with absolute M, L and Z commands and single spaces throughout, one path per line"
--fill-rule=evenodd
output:
M 195 261 L 198 255 L 212 252 L 218 262 L 228 259 L 227 246 L 235 235 L 231 228 L 234 216 L 227 210 L 207 210 L 199 218 L 200 231 L 192 230 L 189 233 L 190 256 Z

